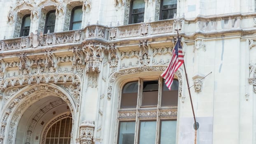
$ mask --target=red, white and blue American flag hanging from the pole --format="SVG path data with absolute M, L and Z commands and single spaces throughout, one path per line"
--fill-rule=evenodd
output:
M 178 39 L 174 49 L 172 50 L 172 60 L 170 61 L 167 69 L 161 74 L 161 77 L 165 79 L 165 84 L 171 90 L 173 77 L 175 72 L 184 63 L 184 56 L 182 54 L 182 45 Z

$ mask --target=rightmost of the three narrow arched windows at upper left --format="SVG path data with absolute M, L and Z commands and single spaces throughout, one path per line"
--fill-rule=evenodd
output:
M 70 30 L 81 29 L 82 17 L 83 17 L 82 7 L 81 6 L 74 7 L 71 12 Z

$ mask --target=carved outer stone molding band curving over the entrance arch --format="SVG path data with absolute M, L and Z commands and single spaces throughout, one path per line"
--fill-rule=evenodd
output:
M 34 102 L 49 95 L 62 98 L 70 107 L 72 116 L 75 117 L 75 103 L 72 100 L 72 96 L 65 89 L 56 84 L 33 84 L 26 86 L 19 93 L 15 94 L 2 109 L 2 116 L 0 116 L 0 144 L 13 144 L 21 115 Z

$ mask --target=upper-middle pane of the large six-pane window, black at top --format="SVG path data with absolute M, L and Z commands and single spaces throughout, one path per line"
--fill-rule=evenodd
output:
M 158 81 L 143 81 L 142 106 L 156 106 L 158 101 Z

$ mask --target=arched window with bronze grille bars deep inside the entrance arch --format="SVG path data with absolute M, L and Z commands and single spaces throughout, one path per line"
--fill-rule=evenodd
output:
M 63 118 L 49 128 L 45 144 L 70 144 L 72 131 L 72 118 Z

